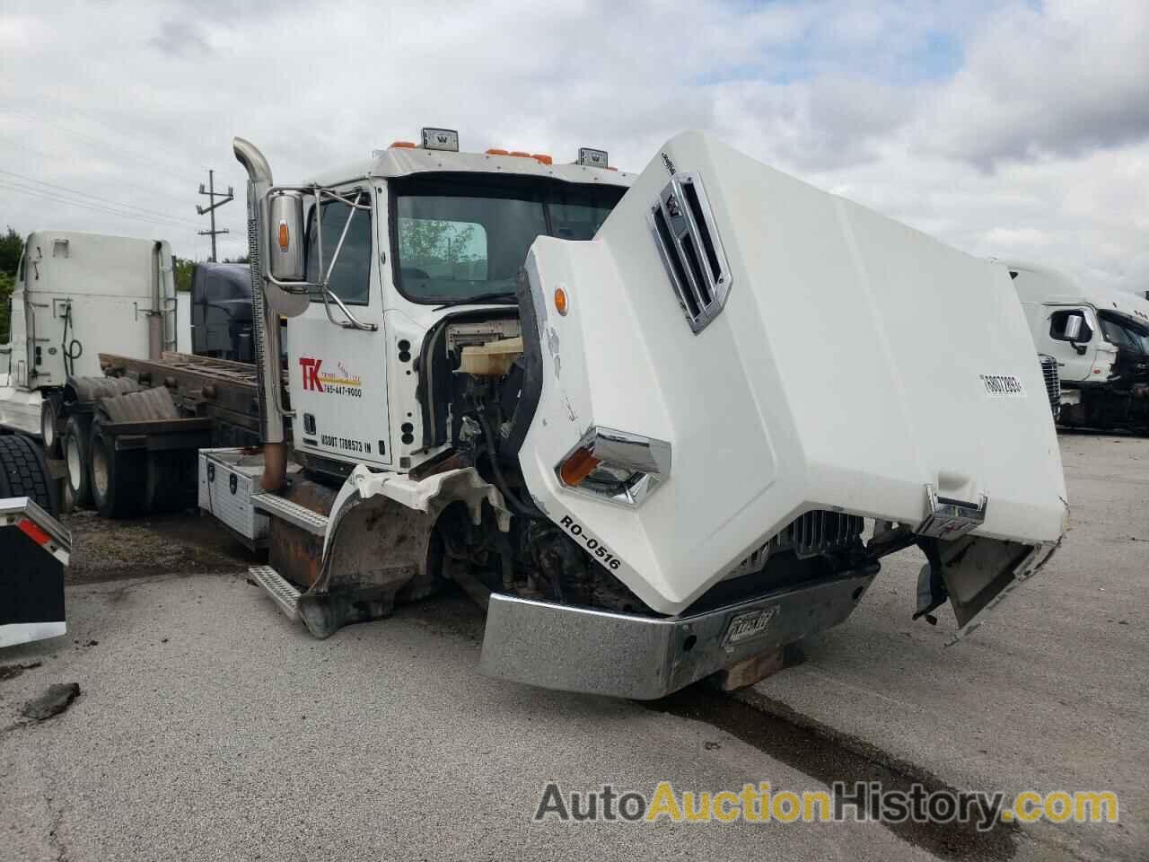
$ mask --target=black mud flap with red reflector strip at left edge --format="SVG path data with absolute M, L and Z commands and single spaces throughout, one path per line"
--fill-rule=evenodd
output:
M 71 536 L 26 497 L 0 499 L 0 647 L 67 633 Z

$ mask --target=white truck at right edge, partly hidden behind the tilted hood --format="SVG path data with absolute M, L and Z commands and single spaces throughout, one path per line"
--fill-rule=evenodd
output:
M 1061 424 L 1149 433 L 1149 301 L 1081 287 L 1034 263 L 997 262 L 1013 279 L 1038 353 L 1057 361 Z

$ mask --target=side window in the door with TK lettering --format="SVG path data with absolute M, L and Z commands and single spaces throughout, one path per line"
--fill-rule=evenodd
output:
M 350 192 L 347 197 L 352 197 Z M 370 202 L 370 197 L 363 194 L 361 203 Z M 323 230 L 323 268 L 326 271 L 336 254 L 336 246 L 344 233 L 347 216 L 352 208 L 342 201 L 327 200 L 323 202 L 321 230 Z M 308 220 L 308 254 L 307 280 L 317 282 L 324 275 L 319 272 L 319 245 L 315 230 L 315 210 Z M 352 217 L 350 226 L 344 246 L 331 270 L 329 288 L 348 306 L 365 306 L 371 300 L 371 210 L 357 209 Z M 323 298 L 314 295 L 313 302 L 322 302 Z

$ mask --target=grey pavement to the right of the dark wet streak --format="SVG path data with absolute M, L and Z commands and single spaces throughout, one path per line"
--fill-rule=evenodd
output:
M 805 664 L 743 695 L 969 788 L 1112 790 L 1117 825 L 1033 829 L 1149 859 L 1149 440 L 1061 437 L 1071 526 L 1050 563 L 953 647 L 911 622 L 921 557 L 890 557 Z

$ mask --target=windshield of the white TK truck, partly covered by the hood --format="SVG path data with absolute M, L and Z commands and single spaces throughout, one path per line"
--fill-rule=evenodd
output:
M 393 187 L 396 279 L 416 302 L 512 293 L 535 237 L 593 238 L 626 191 L 481 175 L 408 177 Z

